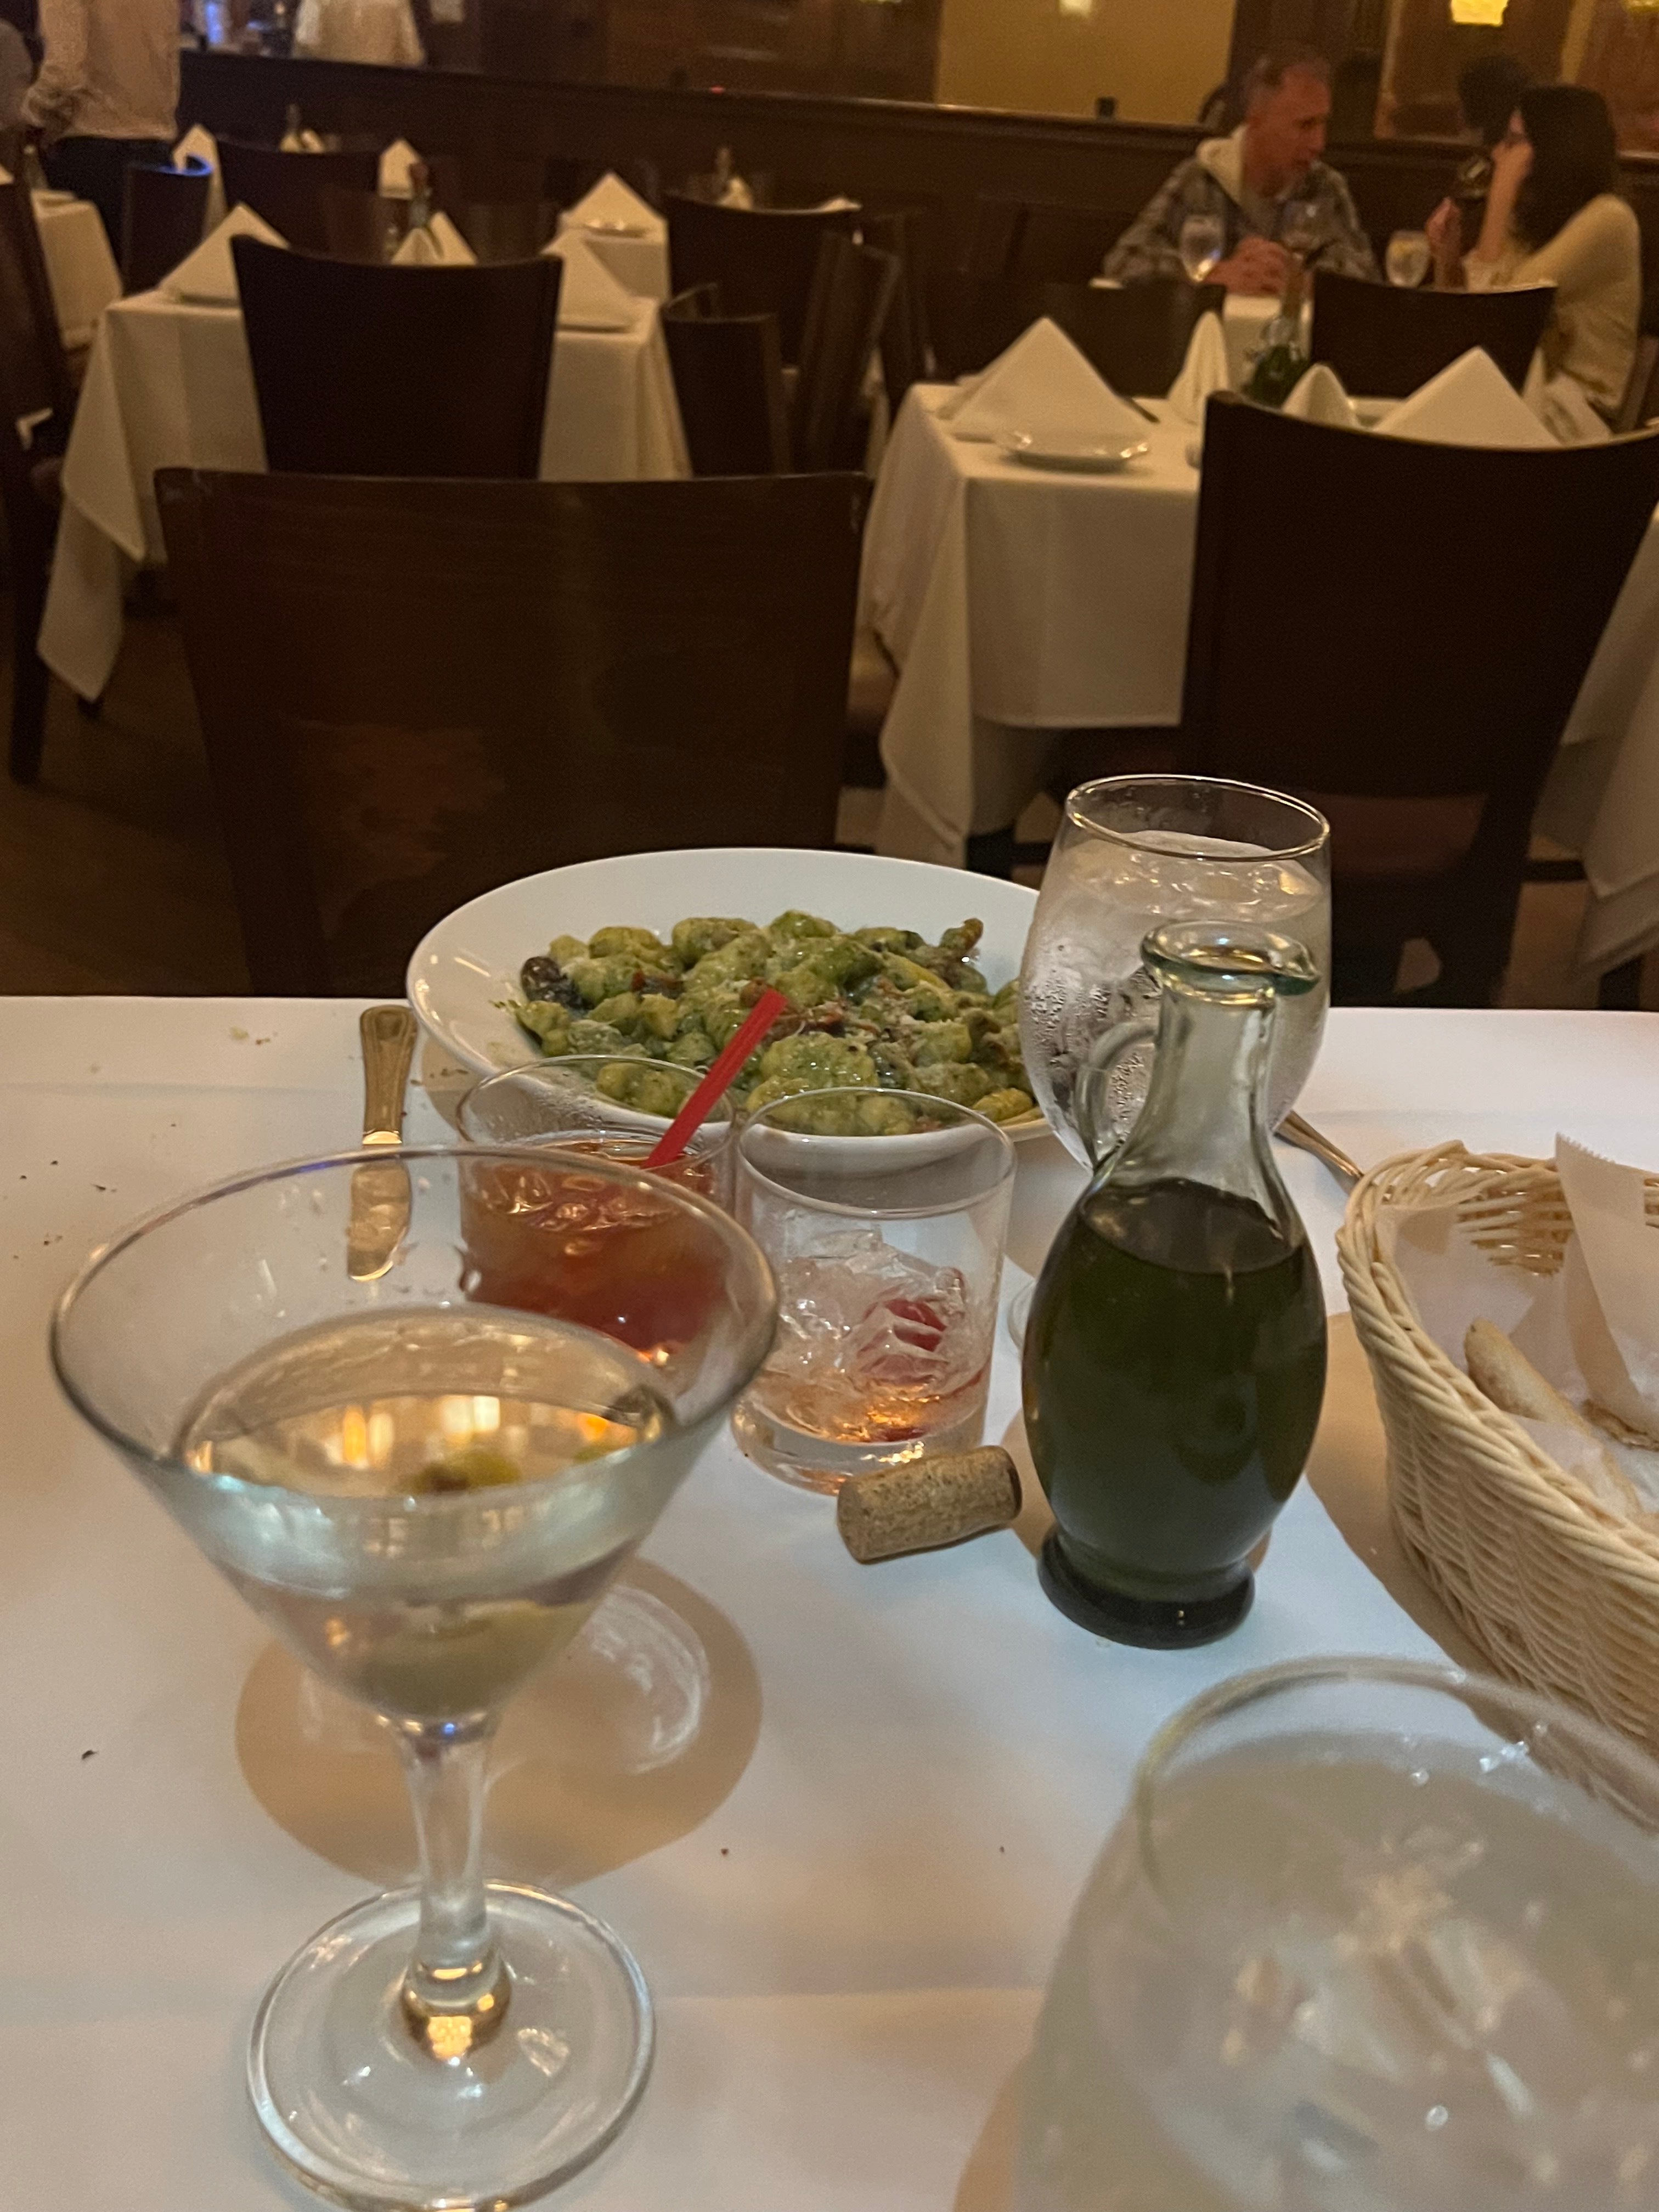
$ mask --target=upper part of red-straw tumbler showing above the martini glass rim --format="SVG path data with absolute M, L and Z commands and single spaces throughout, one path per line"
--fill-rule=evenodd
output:
M 701 1068 L 606 1053 L 504 1068 L 460 1102 L 460 1133 L 469 1144 L 557 1144 L 644 1166 L 701 1077 Z M 730 1099 L 721 1099 L 681 1157 L 653 1175 L 730 1208 L 734 1135 Z

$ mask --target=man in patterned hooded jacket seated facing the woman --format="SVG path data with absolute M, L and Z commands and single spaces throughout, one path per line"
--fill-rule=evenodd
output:
M 1206 139 L 1141 208 L 1106 257 L 1106 276 L 1148 283 L 1183 276 L 1181 223 L 1221 221 L 1221 261 L 1210 283 L 1228 292 L 1279 294 L 1292 250 L 1316 270 L 1376 276 L 1371 243 L 1354 199 L 1321 161 L 1332 113 L 1329 64 L 1312 46 L 1263 53 L 1243 82 L 1245 119 L 1225 139 Z M 1294 208 L 1294 223 L 1287 210 Z M 1285 234 L 1290 230 L 1290 234 Z

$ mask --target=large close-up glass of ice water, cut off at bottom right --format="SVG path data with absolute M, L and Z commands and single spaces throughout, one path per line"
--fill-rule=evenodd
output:
M 1152 1741 L 1015 2212 L 1652 2212 L 1659 1767 L 1531 1690 L 1305 1659 Z

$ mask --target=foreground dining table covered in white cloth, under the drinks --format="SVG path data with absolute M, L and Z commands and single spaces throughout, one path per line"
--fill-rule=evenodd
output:
M 299 2212 L 243 2088 L 265 1980 L 409 1874 L 396 1759 L 305 1677 L 60 1396 L 49 1314 L 124 1223 L 361 1126 L 345 1000 L 0 1000 L 0 2172 L 73 2212 Z M 409 1141 L 471 1077 L 425 1046 Z M 1303 1110 L 1360 1164 L 1557 1130 L 1659 1166 L 1659 1018 L 1343 1009 Z M 1152 1732 L 1245 1668 L 1433 1659 L 1340 1495 L 1383 1447 L 1343 1314 L 1343 1190 L 1281 1148 L 1332 1387 L 1256 1604 L 1221 1644 L 1104 1644 L 1022 1524 L 856 1566 L 834 1506 L 721 1440 L 584 1637 L 511 1708 L 491 1871 L 573 1896 L 655 1993 L 655 2073 L 571 2212 L 1006 2212 L 1020 2068 L 1073 1898 Z M 1082 1170 L 1020 1146 L 1004 1298 Z M 168 1314 L 153 1316 L 157 1334 Z M 991 1438 L 1022 1455 L 1000 1332 Z M 1029 1471 L 1029 1462 L 1026 1471 Z

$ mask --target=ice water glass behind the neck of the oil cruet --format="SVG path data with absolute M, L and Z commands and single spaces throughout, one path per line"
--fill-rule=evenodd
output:
M 1141 942 L 1161 922 L 1232 922 L 1303 945 L 1318 987 L 1281 1009 L 1270 1126 L 1318 1055 L 1329 1006 L 1329 825 L 1301 799 L 1217 776 L 1106 776 L 1079 785 L 1042 878 L 1020 973 L 1020 1040 L 1048 1126 L 1097 1166 L 1135 1126 L 1150 1035 L 1093 1073 L 1126 1022 L 1152 1022 Z

